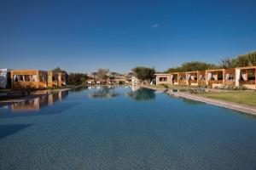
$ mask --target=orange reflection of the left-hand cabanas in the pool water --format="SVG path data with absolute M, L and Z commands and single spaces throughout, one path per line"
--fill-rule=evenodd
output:
M 61 101 L 67 97 L 68 91 L 59 91 L 42 95 L 38 98 L 28 99 L 10 105 L 12 111 L 39 111 L 45 105 L 53 105 L 55 101 Z

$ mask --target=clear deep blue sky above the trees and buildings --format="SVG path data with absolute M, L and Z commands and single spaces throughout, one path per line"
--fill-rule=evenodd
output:
M 256 50 L 256 1 L 1 0 L 0 67 L 164 71 Z

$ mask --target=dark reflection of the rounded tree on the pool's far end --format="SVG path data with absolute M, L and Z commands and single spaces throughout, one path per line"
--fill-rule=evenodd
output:
M 131 99 L 135 99 L 137 101 L 150 100 L 155 98 L 154 90 L 148 88 L 139 88 L 136 91 L 131 91 L 127 93 Z

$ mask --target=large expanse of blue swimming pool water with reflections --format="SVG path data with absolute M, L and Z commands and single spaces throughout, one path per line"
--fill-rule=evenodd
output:
M 0 169 L 256 169 L 256 119 L 145 88 L 0 108 Z

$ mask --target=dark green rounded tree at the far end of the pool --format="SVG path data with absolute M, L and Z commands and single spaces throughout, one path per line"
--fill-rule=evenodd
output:
M 132 69 L 135 72 L 136 77 L 142 81 L 151 81 L 154 79 L 154 68 L 148 68 L 143 66 L 137 66 Z

